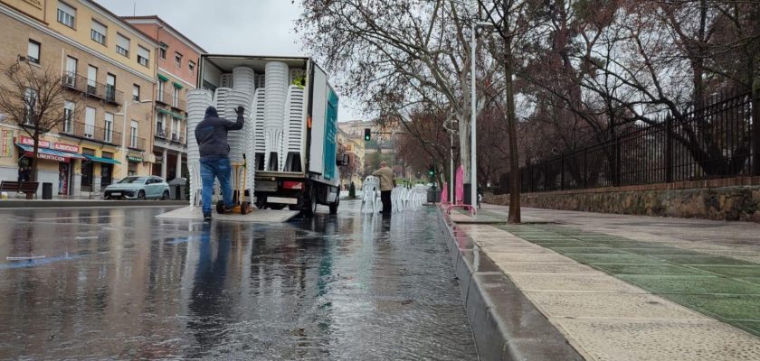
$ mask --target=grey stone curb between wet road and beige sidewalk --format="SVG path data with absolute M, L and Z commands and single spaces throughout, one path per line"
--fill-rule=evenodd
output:
M 480 359 L 584 360 L 441 208 L 438 214 Z

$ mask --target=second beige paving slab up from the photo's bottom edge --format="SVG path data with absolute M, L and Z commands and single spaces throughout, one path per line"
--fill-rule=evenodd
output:
M 525 292 L 548 317 L 707 319 L 651 294 Z

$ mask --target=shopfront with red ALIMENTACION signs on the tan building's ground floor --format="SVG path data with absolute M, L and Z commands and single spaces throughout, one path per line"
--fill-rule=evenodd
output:
M 32 178 L 31 160 L 35 158 L 34 140 L 19 135 L 15 145 L 19 148 L 18 179 L 30 180 Z M 39 162 L 37 180 L 53 183 L 53 186 L 57 186 L 59 195 L 71 195 L 74 168 L 72 162 L 86 160 L 79 152 L 79 145 L 40 140 L 36 156 Z

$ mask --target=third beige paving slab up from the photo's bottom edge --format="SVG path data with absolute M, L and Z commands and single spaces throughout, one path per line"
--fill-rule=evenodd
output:
M 510 274 L 523 291 L 647 293 L 606 274 Z

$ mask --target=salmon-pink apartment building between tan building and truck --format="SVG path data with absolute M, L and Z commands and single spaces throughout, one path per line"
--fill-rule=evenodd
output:
M 181 177 L 187 169 L 187 142 L 195 141 L 187 130 L 186 93 L 198 81 L 198 60 L 203 48 L 158 16 L 125 16 L 127 23 L 158 43 L 157 91 L 153 149 L 153 175 L 168 180 Z

